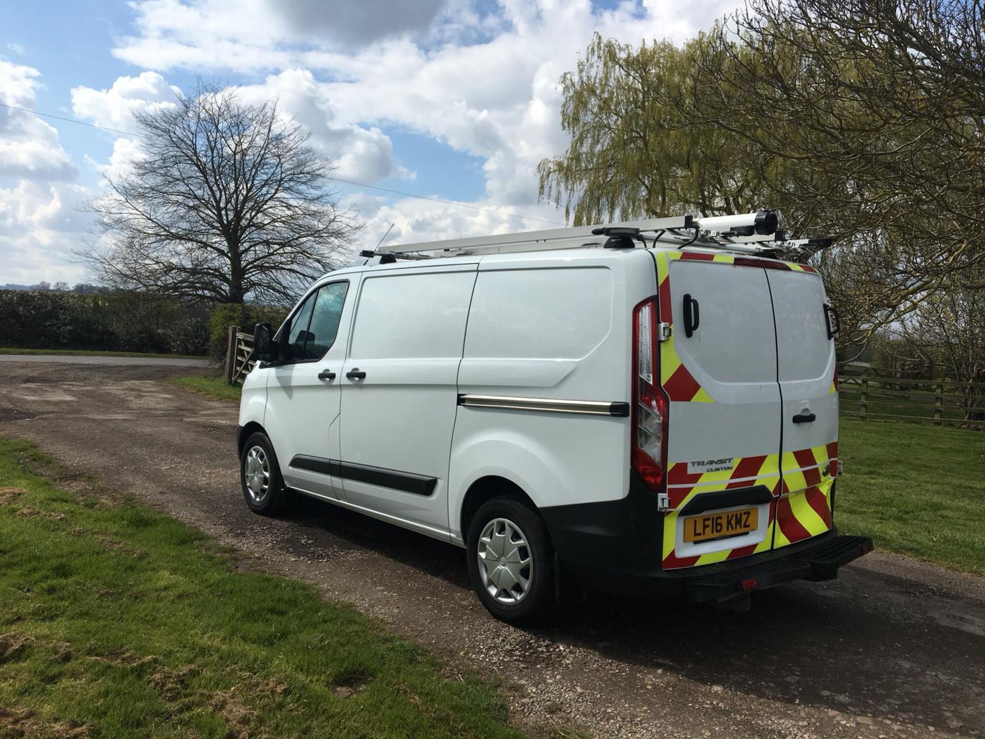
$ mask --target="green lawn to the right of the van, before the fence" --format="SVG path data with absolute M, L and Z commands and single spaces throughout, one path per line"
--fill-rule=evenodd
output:
M 985 574 L 985 434 L 842 421 L 835 522 L 880 549 Z

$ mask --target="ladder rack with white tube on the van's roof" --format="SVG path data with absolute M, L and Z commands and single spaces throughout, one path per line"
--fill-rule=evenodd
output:
M 390 246 L 381 251 L 363 251 L 364 256 L 393 259 L 420 259 L 428 256 L 466 256 L 502 254 L 583 246 L 631 247 L 635 241 L 644 245 L 667 243 L 681 247 L 727 249 L 762 256 L 777 253 L 798 255 L 814 253 L 830 245 L 830 239 L 787 239 L 776 229 L 772 211 L 758 211 L 736 216 L 692 216 L 626 221 L 602 226 L 579 226 L 567 229 L 527 231 L 517 234 L 449 238 Z

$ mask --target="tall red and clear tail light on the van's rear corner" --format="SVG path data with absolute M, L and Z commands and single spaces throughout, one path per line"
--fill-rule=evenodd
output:
M 657 304 L 640 303 L 633 310 L 632 467 L 643 484 L 663 491 L 667 440 L 667 399 L 657 387 Z

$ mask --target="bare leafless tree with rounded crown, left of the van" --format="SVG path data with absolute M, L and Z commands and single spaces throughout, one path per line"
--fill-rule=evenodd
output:
M 200 84 L 134 119 L 141 155 L 87 205 L 99 238 L 81 256 L 106 285 L 283 303 L 338 266 L 359 227 L 328 186 L 332 163 L 276 102 Z

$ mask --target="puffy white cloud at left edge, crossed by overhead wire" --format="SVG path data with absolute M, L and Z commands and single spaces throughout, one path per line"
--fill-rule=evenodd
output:
M 33 110 L 40 73 L 0 58 L 0 175 L 63 180 L 77 173 L 58 141 L 58 131 Z

